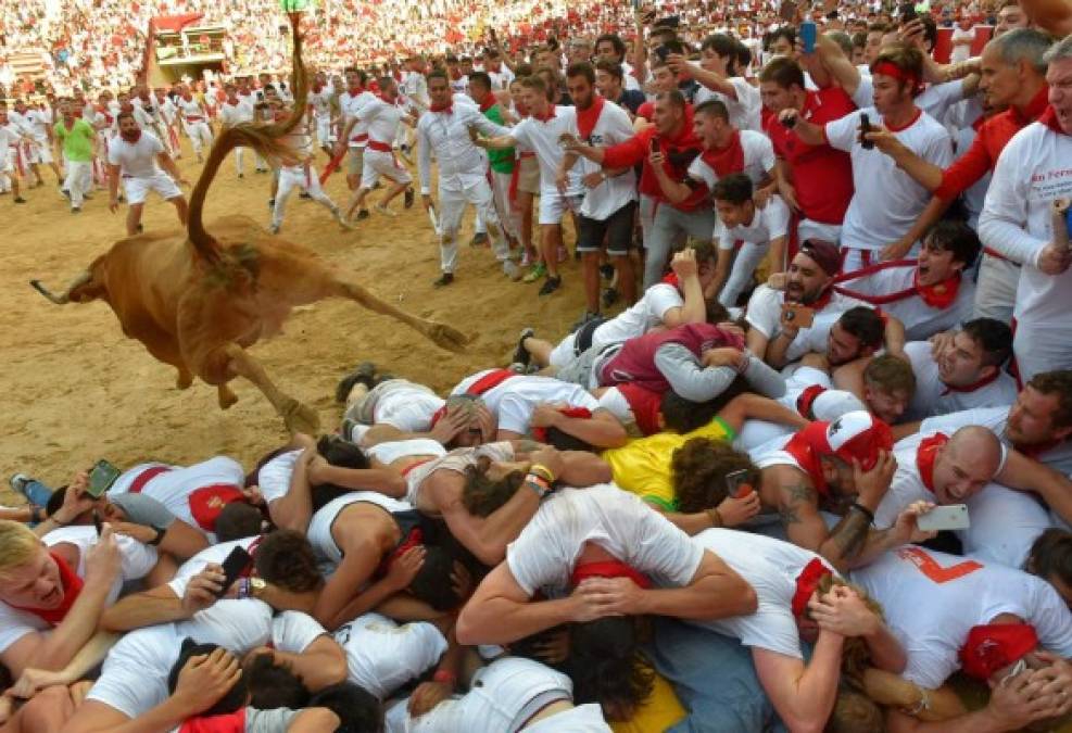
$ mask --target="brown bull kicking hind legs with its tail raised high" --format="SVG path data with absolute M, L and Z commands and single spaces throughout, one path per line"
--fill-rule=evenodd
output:
M 146 232 L 122 239 L 62 293 L 51 292 L 40 280 L 30 285 L 58 305 L 108 303 L 124 334 L 177 369 L 179 389 L 189 388 L 199 377 L 216 388 L 219 406 L 226 409 L 238 401 L 228 382 L 242 377 L 264 394 L 290 431 L 316 434 L 316 412 L 280 390 L 247 351 L 260 339 L 278 333 L 292 308 L 344 298 L 403 321 L 443 349 L 463 351 L 468 339 L 450 326 L 382 301 L 311 251 L 269 236 L 245 216 L 215 220 L 212 233 L 203 227 L 205 194 L 234 148 L 244 146 L 265 157 L 293 160 L 286 140 L 305 112 L 307 81 L 297 15 L 291 16 L 291 27 L 293 112 L 273 125 L 242 124 L 219 136 L 190 197 L 185 232 Z

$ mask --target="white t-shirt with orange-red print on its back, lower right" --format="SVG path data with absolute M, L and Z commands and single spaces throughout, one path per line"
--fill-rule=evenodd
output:
M 945 682 L 971 628 L 1002 614 L 1034 625 L 1043 648 L 1072 656 L 1072 612 L 1049 583 L 1021 570 L 906 545 L 850 579 L 882 605 L 908 655 L 901 677 L 920 686 Z

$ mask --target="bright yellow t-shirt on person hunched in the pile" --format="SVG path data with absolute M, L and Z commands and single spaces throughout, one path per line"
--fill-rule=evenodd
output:
M 610 465 L 614 482 L 620 488 L 666 511 L 676 511 L 678 500 L 670 477 L 670 458 L 673 452 L 693 438 L 729 442 L 734 437 L 733 429 L 722 418 L 716 417 L 692 432 L 658 432 L 619 448 L 609 448 L 603 452 L 603 459 Z

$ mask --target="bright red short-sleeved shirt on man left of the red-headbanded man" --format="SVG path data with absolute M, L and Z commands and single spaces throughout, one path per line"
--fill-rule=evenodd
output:
M 806 94 L 800 114 L 812 125 L 822 127 L 856 110 L 856 104 L 841 87 L 827 87 Z M 825 143 L 809 146 L 774 117 L 770 118 L 766 130 L 774 144 L 774 153 L 789 164 L 804 216 L 822 224 L 841 224 L 854 192 L 853 161 L 848 153 Z

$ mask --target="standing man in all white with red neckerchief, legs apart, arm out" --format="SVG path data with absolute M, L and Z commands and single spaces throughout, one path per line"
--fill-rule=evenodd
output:
M 446 72 L 428 74 L 431 106 L 417 121 L 417 170 L 420 176 L 420 200 L 425 208 L 432 207 L 432 155 L 439 165 L 439 250 L 442 274 L 434 285 L 454 281 L 458 258 L 458 228 L 467 203 L 480 212 L 489 226 L 495 258 L 503 263 L 503 273 L 517 280 L 521 273 L 509 258 L 509 245 L 503 232 L 495 200 L 483 168 L 484 156 L 469 137 L 469 127 L 484 135 L 505 135 L 500 127 L 480 113 L 474 104 L 454 101 Z

